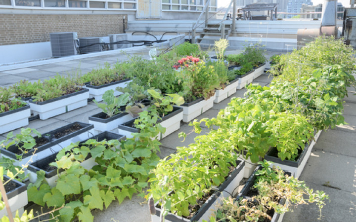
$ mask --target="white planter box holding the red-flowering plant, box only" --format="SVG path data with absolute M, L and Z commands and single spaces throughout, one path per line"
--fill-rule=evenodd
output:
M 183 122 L 189 122 L 203 112 L 209 110 L 214 106 L 216 94 L 207 100 L 200 98 L 191 103 L 184 103 L 180 107 L 183 108 Z

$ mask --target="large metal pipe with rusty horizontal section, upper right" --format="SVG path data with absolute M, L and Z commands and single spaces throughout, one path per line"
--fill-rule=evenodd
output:
M 337 0 L 324 0 L 321 12 L 321 23 L 319 29 L 298 29 L 297 48 L 300 49 L 318 36 L 335 36 L 336 28 L 336 7 Z

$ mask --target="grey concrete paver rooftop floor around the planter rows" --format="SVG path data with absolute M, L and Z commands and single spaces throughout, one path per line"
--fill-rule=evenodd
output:
M 150 48 L 141 52 L 128 52 L 96 56 L 86 59 L 77 59 L 66 62 L 51 63 L 47 65 L 21 68 L 16 70 L 0 72 L 0 86 L 10 86 L 13 83 L 27 79 L 36 81 L 59 74 L 74 74 L 81 70 L 82 74 L 91 69 L 103 65 L 105 62 L 114 64 L 117 61 L 124 61 L 128 55 L 136 54 L 148 58 Z M 237 53 L 235 50 L 228 50 L 226 54 Z M 269 52 L 268 58 L 278 52 Z M 264 74 L 255 79 L 253 83 L 268 85 L 271 78 Z M 223 100 L 219 104 L 200 115 L 198 118 L 216 117 L 218 112 L 225 108 L 232 97 L 243 97 L 246 89 L 238 90 L 234 95 Z M 356 218 L 356 92 L 349 89 L 349 97 L 345 99 L 345 121 L 349 125 L 338 126 L 335 129 L 323 131 L 312 150 L 312 154 L 306 164 L 306 167 L 300 176 L 300 180 L 306 181 L 307 185 L 313 189 L 325 191 L 330 197 L 322 209 L 323 222 L 355 222 Z M 88 123 L 90 115 L 100 112 L 100 109 L 93 102 L 88 106 L 70 111 L 47 120 L 32 120 L 28 127 L 36 128 L 39 132 L 45 133 L 52 129 L 61 127 L 74 121 Z M 205 126 L 203 126 L 205 127 Z M 187 136 L 184 143 L 178 139 L 178 133 L 184 131 L 189 133 L 192 126 L 187 123 L 181 123 L 181 128 L 164 138 L 161 143 L 161 158 L 170 155 L 176 151 L 177 147 L 187 146 L 194 142 L 196 134 L 191 133 Z M 209 130 L 203 128 L 202 134 Z M 14 130 L 18 133 L 19 129 Z M 5 139 L 6 134 L 0 135 L 0 140 Z M 113 202 L 108 209 L 104 211 L 95 210 L 93 212 L 95 222 L 150 222 L 150 213 L 148 206 L 137 196 L 132 200 L 126 199 L 119 205 L 117 201 Z M 315 204 L 302 205 L 294 209 L 294 212 L 287 213 L 283 222 L 314 222 L 317 221 L 319 212 Z

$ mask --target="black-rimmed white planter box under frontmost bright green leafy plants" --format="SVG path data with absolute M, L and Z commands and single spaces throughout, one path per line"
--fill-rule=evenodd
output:
M 223 198 L 230 196 L 230 194 L 235 194 L 237 190 L 236 187 L 240 184 L 244 169 L 245 161 L 236 161 L 237 165 L 235 170 L 226 178 L 226 180 L 221 184 L 217 190 L 209 197 L 209 199 L 202 205 L 202 207 L 194 214 L 194 216 L 189 220 L 181 216 L 168 213 L 165 217 L 166 222 L 202 222 L 203 220 L 209 221 L 210 216 L 217 210 L 217 206 L 221 203 Z M 156 213 L 151 215 L 152 222 L 160 222 L 161 208 L 159 208 L 158 203 L 155 206 Z

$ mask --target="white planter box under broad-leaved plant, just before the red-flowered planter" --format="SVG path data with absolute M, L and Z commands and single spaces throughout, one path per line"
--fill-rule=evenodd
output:
M 161 123 L 161 126 L 166 128 L 164 134 L 158 135 L 158 140 L 165 138 L 171 133 L 180 128 L 180 121 L 183 119 L 183 109 L 179 107 L 173 107 L 173 111 L 159 119 L 157 122 Z M 125 135 L 127 138 L 133 138 L 132 133 L 138 133 L 139 130 L 132 127 L 135 119 L 129 120 L 121 125 L 118 125 L 118 133 Z

